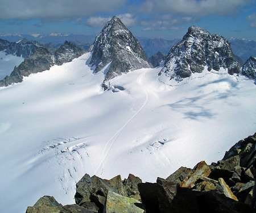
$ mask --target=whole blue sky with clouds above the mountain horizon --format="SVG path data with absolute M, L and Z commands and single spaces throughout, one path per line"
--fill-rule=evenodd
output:
M 0 0 L 0 34 L 97 35 L 114 15 L 140 37 L 179 39 L 196 25 L 256 40 L 256 0 Z

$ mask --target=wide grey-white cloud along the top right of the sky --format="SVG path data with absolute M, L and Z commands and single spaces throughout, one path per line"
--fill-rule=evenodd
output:
M 141 11 L 195 16 L 227 15 L 236 13 L 241 6 L 251 2 L 252 0 L 146 0 Z

